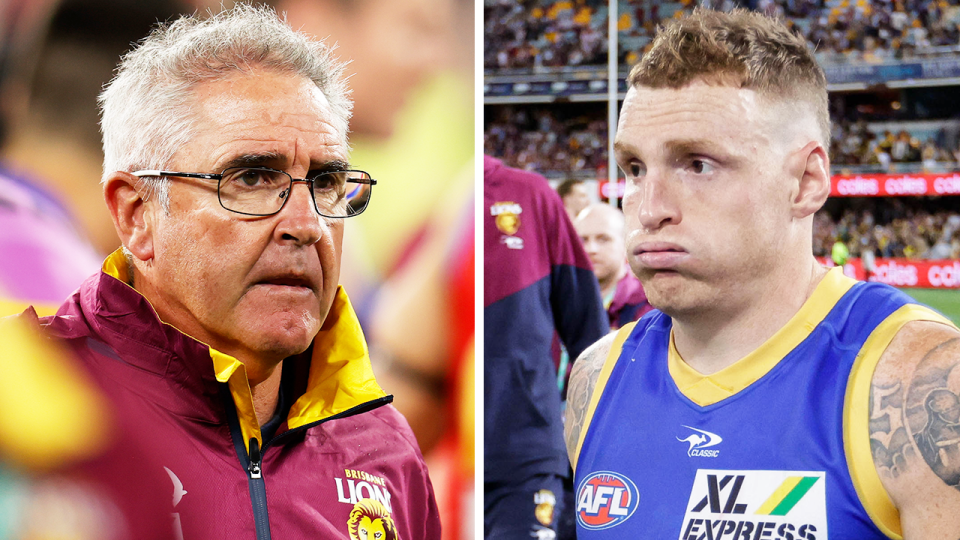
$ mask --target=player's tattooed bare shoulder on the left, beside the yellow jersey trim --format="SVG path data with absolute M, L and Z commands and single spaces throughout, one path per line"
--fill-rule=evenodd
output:
M 597 385 L 600 370 L 603 369 L 604 361 L 610 353 L 610 348 L 613 346 L 616 337 L 617 333 L 611 332 L 587 347 L 577 358 L 577 361 L 573 364 L 573 370 L 570 372 L 570 383 L 567 389 L 567 415 L 564 421 L 563 435 L 567 442 L 567 456 L 571 463 L 574 459 L 574 453 L 577 451 L 580 430 L 586 420 L 590 396 L 593 395 L 593 388 Z

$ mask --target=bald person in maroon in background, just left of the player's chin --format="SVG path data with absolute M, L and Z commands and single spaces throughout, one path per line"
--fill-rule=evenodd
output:
M 643 285 L 627 265 L 623 222 L 620 209 L 603 203 L 591 204 L 573 220 L 600 283 L 600 296 L 610 318 L 611 330 L 635 321 L 653 309 L 647 302 Z

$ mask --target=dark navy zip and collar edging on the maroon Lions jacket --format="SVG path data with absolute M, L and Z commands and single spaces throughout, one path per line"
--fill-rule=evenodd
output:
M 385 396 L 368 401 L 366 403 L 361 403 L 356 407 L 352 407 L 333 416 L 328 416 L 327 418 L 317 420 L 316 422 L 304 424 L 294 429 L 284 431 L 283 433 L 275 436 L 273 439 L 267 441 L 267 444 L 263 445 L 263 448 L 260 448 L 260 443 L 257 441 L 256 437 L 251 437 L 247 445 L 244 445 L 243 435 L 240 430 L 240 420 L 237 418 L 237 409 L 233 404 L 233 396 L 230 395 L 230 388 L 226 383 L 220 383 L 220 394 L 225 399 L 227 422 L 230 426 L 230 435 L 233 439 L 234 449 L 237 451 L 237 457 L 240 459 L 240 464 L 247 471 L 247 486 L 250 489 L 250 503 L 253 505 L 253 522 L 257 530 L 257 540 L 270 540 L 270 515 L 267 512 L 267 486 L 263 480 L 262 470 L 263 454 L 267 451 L 267 448 L 272 446 L 276 441 L 292 433 L 305 431 L 328 420 L 336 420 L 338 418 L 345 418 L 347 416 L 353 416 L 355 414 L 373 410 L 393 401 L 393 396 Z

